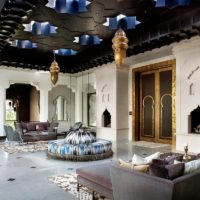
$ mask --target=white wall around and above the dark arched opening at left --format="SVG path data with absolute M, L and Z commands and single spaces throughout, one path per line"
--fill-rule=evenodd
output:
M 36 70 L 0 66 L 0 136 L 5 135 L 3 125 L 5 124 L 5 99 L 6 88 L 10 84 L 25 83 L 35 86 L 40 91 L 40 121 L 48 120 L 48 91 L 53 87 L 50 73 Z M 76 78 L 71 80 L 68 75 L 60 73 L 57 84 L 70 85 L 76 88 Z

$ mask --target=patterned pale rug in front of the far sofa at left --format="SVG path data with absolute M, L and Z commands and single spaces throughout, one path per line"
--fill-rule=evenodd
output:
M 0 149 L 4 150 L 9 154 L 21 153 L 21 152 L 31 152 L 34 153 L 36 151 L 44 151 L 47 150 L 48 141 L 39 141 L 39 142 L 30 142 L 30 143 L 7 143 L 1 142 Z

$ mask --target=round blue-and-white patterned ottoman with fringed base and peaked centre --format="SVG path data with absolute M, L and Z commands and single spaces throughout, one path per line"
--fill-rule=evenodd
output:
M 48 156 L 71 161 L 101 160 L 113 155 L 111 141 L 96 139 L 89 131 L 82 128 L 82 123 L 75 123 L 65 139 L 48 142 Z

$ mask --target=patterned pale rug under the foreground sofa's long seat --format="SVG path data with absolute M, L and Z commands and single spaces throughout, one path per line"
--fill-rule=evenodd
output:
M 92 192 L 88 188 L 81 187 L 79 192 L 77 191 L 77 175 L 75 172 L 61 176 L 50 176 L 49 180 L 79 200 L 92 200 Z M 99 194 L 95 195 L 95 199 L 108 200 Z

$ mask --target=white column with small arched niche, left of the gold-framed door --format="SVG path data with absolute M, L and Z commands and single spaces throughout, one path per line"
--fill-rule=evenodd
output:
M 119 141 L 128 139 L 128 66 L 114 63 L 96 70 L 97 137 Z M 103 127 L 105 110 L 111 127 Z

